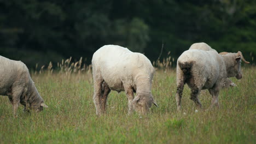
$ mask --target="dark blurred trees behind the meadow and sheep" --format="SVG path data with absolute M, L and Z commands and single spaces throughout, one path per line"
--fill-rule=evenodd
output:
M 53 0 L 0 1 L 0 55 L 29 69 L 72 57 L 91 63 L 114 44 L 150 61 L 174 61 L 193 43 L 218 52 L 256 53 L 256 1 L 252 0 Z

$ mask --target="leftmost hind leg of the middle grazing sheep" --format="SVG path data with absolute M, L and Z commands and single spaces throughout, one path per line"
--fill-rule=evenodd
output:
M 97 77 L 98 78 L 98 77 Z M 96 108 L 96 115 L 101 115 L 102 107 L 101 107 L 101 95 L 102 95 L 102 83 L 103 79 L 94 77 L 94 105 Z

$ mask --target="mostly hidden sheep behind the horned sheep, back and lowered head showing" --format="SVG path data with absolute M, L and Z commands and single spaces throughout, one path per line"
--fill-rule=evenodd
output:
M 203 51 L 216 51 L 214 49 L 212 49 L 212 47 L 210 45 L 207 45 L 206 43 L 195 43 L 192 44 L 189 47 L 189 50 L 203 50 Z M 217 52 L 217 51 L 216 51 Z M 225 55 L 226 52 L 220 52 L 220 55 Z M 222 88 L 228 88 L 228 87 L 235 87 L 236 84 L 234 82 L 232 82 L 229 78 L 223 79 L 222 82 Z

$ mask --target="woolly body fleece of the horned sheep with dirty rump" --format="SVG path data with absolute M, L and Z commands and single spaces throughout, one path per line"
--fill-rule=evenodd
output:
M 189 64 L 189 76 L 193 79 L 187 81 L 190 88 L 208 89 L 218 83 L 221 85 L 226 79 L 226 68 L 223 57 L 216 51 L 187 50 L 178 58 L 177 79 L 184 79 L 185 65 Z M 183 71 L 182 71 L 183 69 Z M 178 81 L 177 81 L 178 82 Z

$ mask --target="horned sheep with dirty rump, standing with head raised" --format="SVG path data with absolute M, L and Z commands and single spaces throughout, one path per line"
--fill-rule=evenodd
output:
M 191 89 L 190 99 L 198 108 L 201 108 L 197 95 L 202 89 L 208 89 L 212 95 L 212 104 L 218 106 L 218 95 L 222 82 L 227 77 L 241 79 L 242 53 L 228 53 L 219 55 L 216 51 L 187 50 L 179 56 L 177 61 L 177 93 L 176 102 L 178 111 L 181 110 L 181 98 L 185 83 Z

